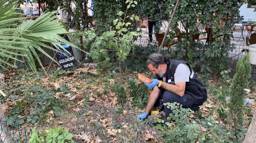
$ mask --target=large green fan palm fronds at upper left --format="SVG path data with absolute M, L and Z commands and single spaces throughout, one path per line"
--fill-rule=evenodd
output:
M 42 47 L 61 52 L 61 50 L 66 51 L 66 49 L 62 47 L 62 44 L 68 44 L 81 50 L 79 47 L 66 41 L 60 36 L 60 34 L 68 34 L 74 39 L 72 34 L 65 29 L 63 23 L 61 23 L 54 15 L 57 11 L 44 13 L 34 21 L 23 21 L 17 28 L 7 29 L 6 27 L 10 25 L 12 27 L 16 26 L 15 24 L 10 23 L 20 20 L 20 18 L 8 19 L 8 17 L 6 17 L 6 12 L 12 9 L 15 0 L 11 0 L 8 4 L 5 2 L 7 2 L 7 0 L 0 2 L 0 7 L 3 7 L 3 9 L 0 9 L 0 51 L 3 53 L 1 54 L 0 61 L 4 61 L 1 58 L 20 61 L 16 57 L 21 56 L 22 59 L 27 61 L 31 69 L 37 73 L 35 61 L 37 61 L 42 69 L 44 69 L 38 53 L 42 53 L 56 62 L 43 50 Z M 52 43 L 52 45 L 57 48 L 55 49 L 48 46 L 45 42 Z M 13 55 L 15 56 L 13 57 Z M 2 63 L 7 64 L 8 66 L 11 65 L 6 61 Z M 3 67 L 2 65 L 0 66 Z

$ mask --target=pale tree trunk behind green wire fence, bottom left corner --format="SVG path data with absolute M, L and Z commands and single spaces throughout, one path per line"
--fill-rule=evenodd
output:
M 7 135 L 7 133 L 5 132 L 7 130 L 7 126 L 5 124 L 6 120 L 5 120 L 5 117 L 4 117 L 4 113 L 3 113 L 3 108 L 2 108 L 1 102 L 0 102 L 0 119 L 1 119 L 1 122 L 2 122 L 2 129 L 0 129 L 0 131 L 2 130 L 1 131 L 2 142 L 3 143 L 11 143 L 12 137 L 10 136 L 10 134 Z

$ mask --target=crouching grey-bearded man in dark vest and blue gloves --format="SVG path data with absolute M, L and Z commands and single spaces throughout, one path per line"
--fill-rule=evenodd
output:
M 152 54 L 146 64 L 156 79 L 145 85 L 154 88 L 151 92 L 144 113 L 137 116 L 137 120 L 145 119 L 153 107 L 161 103 L 177 102 L 183 108 L 196 111 L 207 100 L 207 91 L 199 77 L 186 62 L 171 60 L 168 55 Z M 164 106 L 165 120 L 172 110 Z

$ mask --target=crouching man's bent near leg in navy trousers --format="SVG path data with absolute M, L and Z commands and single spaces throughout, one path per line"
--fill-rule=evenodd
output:
M 182 104 L 182 107 L 186 106 L 186 95 L 184 94 L 184 96 L 179 96 L 174 94 L 173 92 L 170 91 L 164 91 L 163 94 L 163 100 L 164 103 L 173 103 L 173 102 L 177 102 Z M 172 110 L 170 108 L 167 108 L 167 106 L 164 106 L 164 112 L 165 112 L 165 119 L 167 119 L 167 117 L 169 117 L 169 114 L 172 113 Z

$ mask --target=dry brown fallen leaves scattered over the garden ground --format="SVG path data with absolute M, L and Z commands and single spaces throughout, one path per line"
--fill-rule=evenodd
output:
M 91 81 L 91 83 L 98 83 L 97 85 L 93 85 L 90 84 L 90 82 L 87 82 L 88 80 L 90 80 L 89 78 L 76 78 L 81 76 L 81 74 L 92 74 L 92 77 L 99 77 L 99 75 L 96 72 L 96 69 L 94 67 L 86 67 L 86 68 L 77 68 L 74 71 L 67 71 L 68 75 L 65 77 L 59 77 L 56 80 L 50 81 L 51 76 L 48 76 L 45 79 L 39 79 L 38 81 L 36 81 L 36 85 L 40 85 L 43 86 L 45 88 L 54 88 L 55 90 L 61 88 L 61 85 L 65 85 L 67 87 L 69 87 L 69 91 L 70 93 L 65 93 L 65 92 L 56 92 L 54 97 L 56 99 L 60 98 L 62 99 L 62 101 L 66 101 L 67 105 L 65 105 L 63 107 L 63 115 L 61 116 L 56 116 L 53 112 L 53 110 L 49 110 L 47 112 L 47 114 L 49 114 L 48 118 L 44 119 L 44 124 L 37 124 L 38 129 L 40 130 L 47 130 L 49 128 L 53 128 L 54 126 L 61 126 L 64 125 L 65 129 L 69 130 L 71 133 L 74 132 L 74 126 L 72 126 L 71 122 L 77 121 L 77 117 L 75 112 L 79 112 L 80 110 L 82 110 L 83 108 L 85 108 L 83 102 L 85 101 L 84 98 L 84 91 L 89 91 L 90 92 L 90 98 L 88 101 L 90 101 L 90 105 L 95 104 L 95 103 L 101 103 L 101 104 L 107 104 L 107 105 L 112 105 L 112 106 L 118 106 L 121 107 L 120 104 L 118 104 L 118 98 L 117 98 L 117 94 L 115 92 L 112 92 L 110 89 L 107 90 L 106 92 L 103 92 L 103 87 L 105 85 L 104 82 L 97 82 L 98 80 L 104 80 L 104 75 L 100 78 L 96 78 L 93 81 Z M 107 75 L 108 73 L 111 72 L 105 72 L 103 74 Z M 6 95 L 7 97 L 5 98 L 5 101 L 2 102 L 2 108 L 5 114 L 9 114 L 10 113 L 10 109 L 13 105 L 17 105 L 18 102 L 24 101 L 24 102 L 28 102 L 26 101 L 26 98 L 23 99 L 17 99 L 17 100 L 11 100 L 9 98 L 9 96 L 15 92 L 14 88 L 14 84 L 16 83 L 25 83 L 24 79 L 28 76 L 23 75 L 21 78 L 17 78 L 16 76 L 20 74 L 18 73 L 10 73 L 8 75 L 3 76 L 2 78 L 4 83 L 8 83 L 8 86 L 6 86 L 5 88 L 8 87 L 8 92 L 6 94 L 2 94 L 2 95 Z M 137 78 L 137 73 L 130 73 L 128 75 L 126 75 L 128 78 Z M 110 86 L 113 86 L 115 83 L 117 83 L 117 81 L 115 81 L 116 79 L 108 79 L 108 82 L 110 84 Z M 139 82 L 139 81 L 138 81 Z M 208 80 L 208 82 L 211 85 L 214 85 L 216 82 L 218 81 L 214 81 L 214 80 Z M 85 84 L 87 83 L 87 84 Z M 33 81 L 29 81 L 26 83 L 27 88 L 31 88 L 33 87 Z M 255 87 L 256 88 L 256 87 Z M 0 89 L 1 91 L 4 91 L 3 89 Z M 248 92 L 248 90 L 247 90 Z M 1 92 L 2 93 L 2 92 Z M 30 93 L 33 94 L 33 93 Z M 23 96 L 25 97 L 24 93 L 18 95 L 18 96 Z M 129 99 L 129 94 L 127 94 L 128 99 Z M 254 97 L 255 98 L 255 91 L 252 94 L 249 94 L 248 92 L 248 97 Z M 211 109 L 217 109 L 219 107 L 219 103 L 218 101 L 213 99 L 213 96 L 208 93 L 208 100 L 202 105 L 202 107 L 200 108 L 200 110 L 202 111 L 202 114 L 207 117 L 209 113 L 209 111 L 212 111 Z M 250 106 L 252 108 L 255 109 L 255 102 L 246 106 Z M 29 113 L 29 110 L 31 110 L 31 108 L 29 107 L 25 107 L 24 110 L 26 110 L 26 112 L 21 113 L 21 115 L 24 116 L 24 120 L 26 118 L 26 115 L 28 115 L 27 113 Z M 136 109 L 134 110 L 134 114 L 136 118 L 136 114 L 144 112 L 144 110 L 140 110 L 140 109 Z M 88 118 L 90 118 L 90 114 L 93 113 L 93 111 L 88 111 L 87 115 Z M 253 113 L 253 112 L 252 112 Z M 127 111 L 124 110 L 122 115 L 126 115 Z M 218 113 L 215 113 L 217 119 L 216 119 L 216 123 L 217 124 L 225 124 L 225 122 L 223 122 L 219 116 Z M 197 113 L 191 114 L 189 115 L 189 118 L 191 118 L 191 120 L 194 120 L 194 118 L 197 116 Z M 113 126 L 111 126 L 111 118 L 101 118 L 100 120 L 94 120 L 91 119 L 91 122 L 101 122 L 102 124 L 102 128 L 106 128 L 107 130 L 107 134 L 108 137 L 111 138 L 112 142 L 114 142 L 116 140 L 116 135 L 121 133 L 120 129 L 115 129 Z M 110 121 L 110 123 L 108 123 L 108 121 Z M 206 132 L 205 128 L 201 125 L 200 128 L 202 131 Z M 20 124 L 21 127 L 24 127 L 24 124 Z M 35 125 L 31 124 L 30 122 L 26 124 L 26 127 L 28 129 L 32 129 Z M 122 123 L 122 128 L 124 129 L 128 129 L 129 126 L 127 126 L 126 123 Z M 248 128 L 248 126 L 247 126 Z M 83 142 L 100 142 L 101 140 L 99 139 L 98 136 L 95 135 L 91 135 L 89 133 L 86 132 L 80 132 L 80 134 L 76 134 L 73 133 L 74 137 L 76 139 L 81 139 L 83 140 Z M 137 136 L 137 134 L 134 134 L 134 136 Z M 150 140 L 150 142 L 156 142 L 156 137 L 152 135 L 152 133 L 150 131 L 146 131 L 146 134 L 144 136 L 145 141 L 146 140 Z

